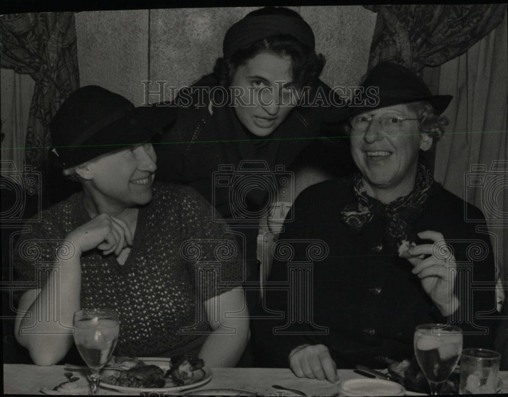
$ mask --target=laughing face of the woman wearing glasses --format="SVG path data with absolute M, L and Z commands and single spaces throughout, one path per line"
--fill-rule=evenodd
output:
M 403 120 L 398 128 L 384 127 L 377 116 L 386 114 L 416 118 L 404 104 L 367 112 L 366 115 L 373 116 L 368 128 L 351 129 L 351 153 L 367 193 L 395 200 L 414 187 L 419 151 L 430 149 L 432 138 L 421 133 L 419 120 Z

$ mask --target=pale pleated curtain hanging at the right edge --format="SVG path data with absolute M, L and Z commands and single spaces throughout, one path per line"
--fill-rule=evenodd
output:
M 452 94 L 450 120 L 436 145 L 435 179 L 480 208 L 499 268 L 508 275 L 508 26 L 502 23 L 461 56 L 426 68 L 434 92 Z M 467 217 L 467 214 L 465 214 Z

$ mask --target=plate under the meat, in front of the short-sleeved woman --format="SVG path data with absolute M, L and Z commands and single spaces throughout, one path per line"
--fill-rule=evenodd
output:
M 143 360 L 143 362 L 147 366 L 157 366 L 163 369 L 164 371 L 168 371 L 171 368 L 171 358 L 164 358 L 164 357 L 140 357 L 140 360 Z M 149 387 L 126 387 L 126 386 L 117 386 L 112 385 L 111 383 L 108 383 L 107 379 L 104 377 L 109 376 L 108 372 L 119 372 L 118 370 L 108 370 L 106 367 L 103 370 L 103 373 L 101 374 L 101 387 L 106 387 L 108 389 L 113 389 L 116 391 L 120 391 L 122 393 L 129 393 L 129 394 L 140 394 L 142 391 L 144 392 L 176 392 L 176 391 L 183 391 L 187 389 L 192 389 L 193 387 L 202 386 L 206 383 L 208 383 L 212 379 L 212 370 L 208 368 L 207 366 L 204 366 L 203 368 L 200 368 L 199 370 L 196 370 L 193 372 L 192 378 L 185 381 L 185 383 L 181 386 L 170 386 L 170 387 L 156 387 L 156 388 L 149 388 Z

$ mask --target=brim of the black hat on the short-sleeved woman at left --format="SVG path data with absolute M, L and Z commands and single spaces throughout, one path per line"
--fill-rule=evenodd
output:
M 75 147 L 58 148 L 61 168 L 78 166 L 100 155 L 149 141 L 176 119 L 175 107 L 142 106 L 105 126 Z

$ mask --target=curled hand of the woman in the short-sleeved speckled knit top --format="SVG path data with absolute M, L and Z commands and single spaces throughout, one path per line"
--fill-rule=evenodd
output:
M 102 213 L 69 233 L 66 238 L 74 245 L 78 253 L 99 248 L 104 255 L 114 252 L 116 256 L 128 245 L 132 245 L 133 236 L 127 222 Z

